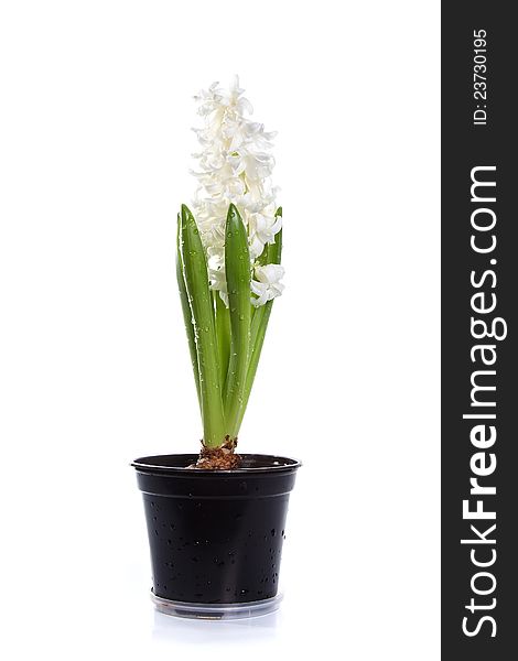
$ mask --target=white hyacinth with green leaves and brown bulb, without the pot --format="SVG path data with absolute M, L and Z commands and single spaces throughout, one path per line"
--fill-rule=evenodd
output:
M 272 185 L 274 133 L 248 119 L 237 77 L 196 97 L 204 126 L 198 186 L 179 215 L 177 268 L 203 419 L 199 467 L 235 467 L 237 436 L 273 299 L 282 293 L 282 209 Z

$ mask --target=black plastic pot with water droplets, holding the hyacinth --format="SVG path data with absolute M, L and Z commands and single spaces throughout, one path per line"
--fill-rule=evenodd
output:
M 236 470 L 187 468 L 197 456 L 136 459 L 155 597 L 182 604 L 272 599 L 300 463 L 241 455 Z

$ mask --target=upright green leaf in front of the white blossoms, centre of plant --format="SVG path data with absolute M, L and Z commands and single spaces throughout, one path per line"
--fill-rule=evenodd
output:
M 230 310 L 230 359 L 224 401 L 228 434 L 235 438 L 245 407 L 251 304 L 248 235 L 233 204 L 228 208 L 225 228 L 225 272 Z

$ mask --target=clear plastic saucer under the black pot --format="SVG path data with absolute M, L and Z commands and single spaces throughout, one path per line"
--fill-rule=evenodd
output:
M 155 609 L 164 615 L 186 617 L 191 619 L 229 620 L 259 617 L 276 611 L 282 600 L 282 595 L 270 599 L 248 602 L 242 604 L 193 604 L 188 602 L 171 602 L 158 597 L 151 589 L 151 600 Z

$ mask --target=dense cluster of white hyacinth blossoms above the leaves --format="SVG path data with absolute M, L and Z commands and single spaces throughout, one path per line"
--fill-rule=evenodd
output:
M 207 251 L 211 286 L 228 305 L 225 279 L 225 221 L 228 206 L 234 203 L 247 227 L 252 272 L 253 305 L 263 305 L 279 296 L 284 270 L 279 264 L 259 266 L 257 259 L 267 243 L 274 243 L 282 218 L 276 217 L 276 194 L 271 173 L 274 159 L 270 151 L 276 133 L 266 132 L 263 124 L 245 115 L 253 112 L 239 79 L 223 89 L 213 83 L 194 98 L 198 113 L 205 118 L 202 129 L 194 129 L 202 152 L 198 171 L 193 174 L 199 186 L 195 193 L 194 216 Z M 256 297 L 257 296 L 257 297 Z

